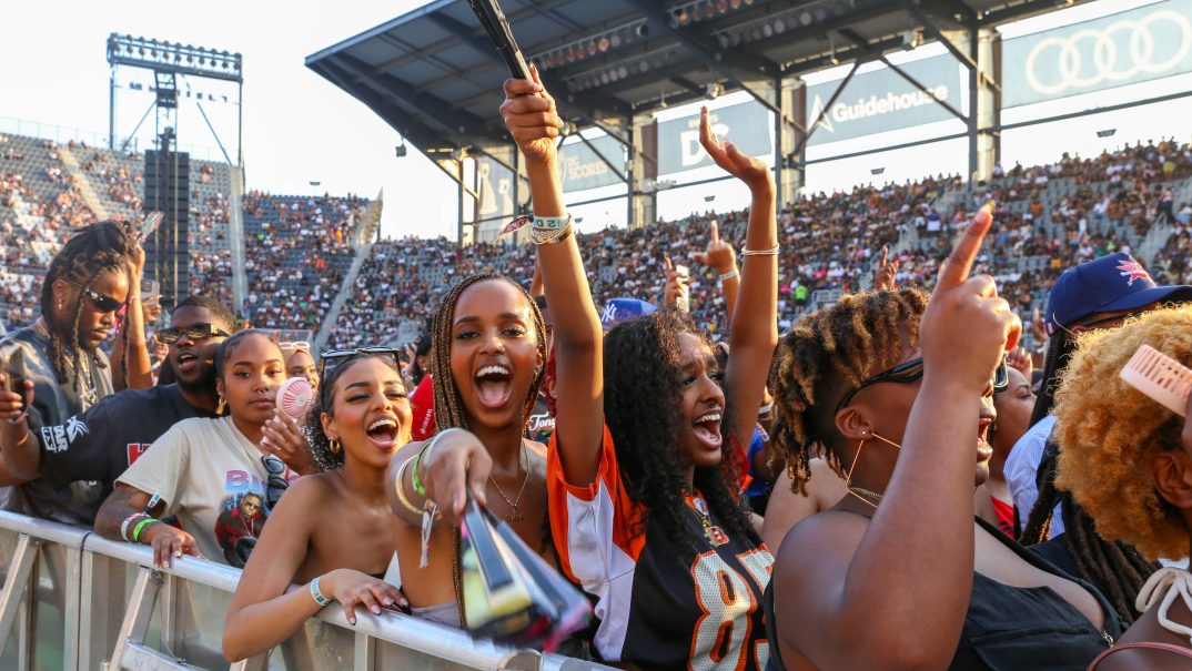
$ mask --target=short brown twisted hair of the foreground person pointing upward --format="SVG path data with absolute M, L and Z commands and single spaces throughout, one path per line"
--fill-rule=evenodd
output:
M 805 313 L 780 338 L 770 368 L 770 440 L 786 454 L 793 491 L 807 495 L 815 456 L 845 477 L 840 455 L 831 449 L 836 404 L 904 347 L 918 346 L 926 306 L 927 293 L 914 287 L 846 293 L 833 305 Z

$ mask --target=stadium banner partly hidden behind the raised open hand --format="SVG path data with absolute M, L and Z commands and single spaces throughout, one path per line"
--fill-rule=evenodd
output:
M 720 137 L 731 137 L 750 156 L 774 151 L 770 112 L 759 102 L 741 102 L 709 112 L 712 128 Z M 668 175 L 712 166 L 700 145 L 700 114 L 658 124 L 658 174 Z

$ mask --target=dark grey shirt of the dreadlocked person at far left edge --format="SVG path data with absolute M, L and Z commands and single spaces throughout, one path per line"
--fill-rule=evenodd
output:
M 60 381 L 54 371 L 50 340 L 43 327 L 33 325 L 0 338 L 0 368 L 6 374 L 33 383 L 33 404 L 29 409 L 29 430 L 55 445 L 70 436 L 67 421 L 112 393 L 112 374 L 107 356 L 97 350 L 85 354 L 82 384 L 75 389 L 74 371 L 68 365 L 68 379 Z M 0 509 L 62 522 L 92 527 L 104 503 L 104 486 L 97 481 L 76 480 L 56 486 L 45 478 L 0 487 Z

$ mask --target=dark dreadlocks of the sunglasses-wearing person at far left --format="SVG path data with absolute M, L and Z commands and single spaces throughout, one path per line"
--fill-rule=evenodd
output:
M 68 369 L 74 371 L 74 390 L 82 390 L 82 355 L 86 353 L 100 368 L 106 367 L 93 352 L 85 352 L 79 346 L 79 322 L 82 319 L 82 302 L 85 292 L 95 284 L 100 275 L 108 272 L 124 272 L 136 241 L 116 222 L 97 222 L 70 237 L 54 255 L 50 267 L 42 281 L 41 309 L 49 325 L 50 355 L 54 359 L 54 373 L 58 380 L 66 380 Z M 54 282 L 66 280 L 79 287 L 79 298 L 74 305 L 74 317 L 69 324 L 58 324 L 54 318 Z M 128 297 L 131 298 L 131 297 Z M 128 298 L 124 306 L 128 307 Z M 128 321 L 124 322 L 128 329 Z M 67 333 L 63 333 L 67 331 Z M 129 340 L 124 338 L 124 361 L 129 360 Z M 122 372 L 123 374 L 123 372 Z

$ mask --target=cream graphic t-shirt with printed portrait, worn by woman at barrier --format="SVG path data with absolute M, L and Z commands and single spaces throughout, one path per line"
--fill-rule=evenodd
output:
M 162 516 L 178 515 L 204 558 L 237 566 L 269 515 L 262 456 L 231 417 L 197 417 L 154 441 L 117 481 L 160 493 Z M 298 474 L 286 468 L 281 477 Z

